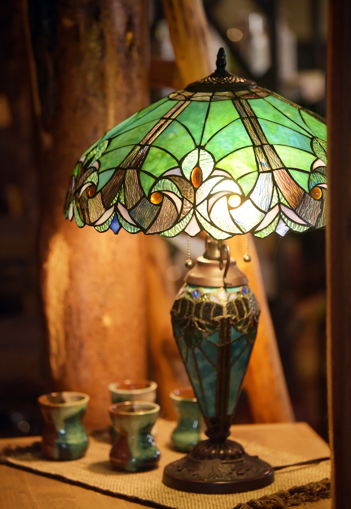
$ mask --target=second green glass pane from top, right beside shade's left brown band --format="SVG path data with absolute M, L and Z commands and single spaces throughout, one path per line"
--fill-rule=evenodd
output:
M 195 149 L 192 137 L 184 126 L 173 120 L 164 131 L 154 140 L 152 145 L 168 150 L 177 159 Z

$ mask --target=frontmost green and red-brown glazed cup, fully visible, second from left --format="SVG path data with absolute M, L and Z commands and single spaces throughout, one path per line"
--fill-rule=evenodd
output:
M 110 416 L 117 432 L 110 461 L 118 470 L 139 472 L 157 466 L 157 449 L 151 428 L 159 415 L 153 402 L 127 401 L 111 405 Z

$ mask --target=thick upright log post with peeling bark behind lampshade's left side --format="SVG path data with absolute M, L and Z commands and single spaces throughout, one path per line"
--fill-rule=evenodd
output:
M 62 205 L 83 151 L 147 104 L 147 6 L 58 0 L 43 19 L 36 5 L 29 3 L 24 22 L 41 140 L 51 372 L 56 389 L 90 395 L 86 423 L 101 428 L 109 423 L 107 384 L 147 375 L 144 237 L 80 230 Z

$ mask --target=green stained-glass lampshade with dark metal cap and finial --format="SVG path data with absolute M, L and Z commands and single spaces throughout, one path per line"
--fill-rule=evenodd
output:
M 225 70 L 142 109 L 87 149 L 66 217 L 99 232 L 214 239 L 326 223 L 325 121 Z

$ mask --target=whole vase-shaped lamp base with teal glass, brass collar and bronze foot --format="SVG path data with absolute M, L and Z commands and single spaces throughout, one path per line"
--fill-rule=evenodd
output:
M 194 493 L 239 493 L 268 486 L 273 468 L 228 440 L 260 306 L 225 241 L 207 238 L 204 256 L 187 273 L 171 315 L 209 440 L 167 465 L 164 484 Z

